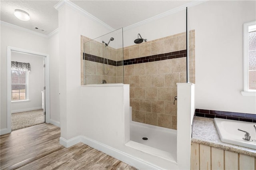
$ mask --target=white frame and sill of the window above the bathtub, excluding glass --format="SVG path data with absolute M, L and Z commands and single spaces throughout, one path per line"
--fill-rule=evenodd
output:
M 256 96 L 256 90 L 249 89 L 249 63 L 248 63 L 248 32 L 249 27 L 256 25 L 256 21 L 244 24 L 244 91 L 241 91 L 243 96 Z

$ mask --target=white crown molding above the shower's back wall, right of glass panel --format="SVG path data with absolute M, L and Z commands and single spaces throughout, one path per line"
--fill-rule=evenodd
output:
M 163 12 L 162 14 L 158 14 L 156 16 L 153 16 L 153 17 L 148 18 L 146 20 L 143 20 L 141 22 L 137 22 L 137 23 L 132 24 L 130 26 L 124 27 L 124 32 L 127 31 L 127 30 L 131 30 L 133 28 L 136 28 L 138 26 L 142 26 L 142 25 L 147 24 L 149 22 L 152 22 L 152 21 L 155 21 L 155 20 L 159 20 L 160 18 L 164 18 L 165 16 L 169 16 L 169 15 L 174 14 L 176 12 L 180 12 L 182 10 L 186 10 L 186 7 L 190 8 L 192 6 L 196 6 L 196 5 L 202 4 L 202 3 L 206 2 L 206 1 L 208 1 L 208 0 L 195 0 L 195 1 L 192 1 L 192 2 L 190 2 L 188 4 L 184 4 L 182 6 L 174 8 L 172 10 Z

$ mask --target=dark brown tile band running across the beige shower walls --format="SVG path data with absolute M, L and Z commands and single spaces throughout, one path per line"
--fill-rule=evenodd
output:
M 108 63 L 110 65 L 114 66 L 120 66 L 120 65 L 131 65 L 131 64 L 138 64 L 138 63 L 148 63 L 153 61 L 160 61 L 160 60 L 166 60 L 166 59 L 174 59 L 174 58 L 180 58 L 180 57 L 187 57 L 187 50 L 181 50 L 181 51 L 174 51 L 170 53 L 163 53 L 158 55 L 150 55 L 146 57 L 139 57 L 139 58 L 133 58 L 133 59 L 126 59 L 124 61 L 114 61 L 108 59 Z M 103 63 L 104 59 L 102 57 L 98 57 L 95 55 L 83 53 L 83 59 L 88 61 L 94 61 L 98 63 Z M 106 59 L 105 59 L 106 63 Z

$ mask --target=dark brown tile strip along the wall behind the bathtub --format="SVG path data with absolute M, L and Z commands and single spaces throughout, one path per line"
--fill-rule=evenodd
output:
M 195 116 L 208 117 L 208 118 L 222 118 L 231 119 L 236 121 L 246 121 L 256 123 L 256 114 L 250 113 L 236 113 L 236 112 L 224 112 L 224 111 L 212 111 L 206 109 L 196 109 Z

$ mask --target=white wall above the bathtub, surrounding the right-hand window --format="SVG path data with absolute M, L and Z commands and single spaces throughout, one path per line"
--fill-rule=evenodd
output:
M 243 24 L 256 20 L 256 1 L 208 1 L 188 9 L 196 32 L 196 108 L 256 114 L 242 96 Z

